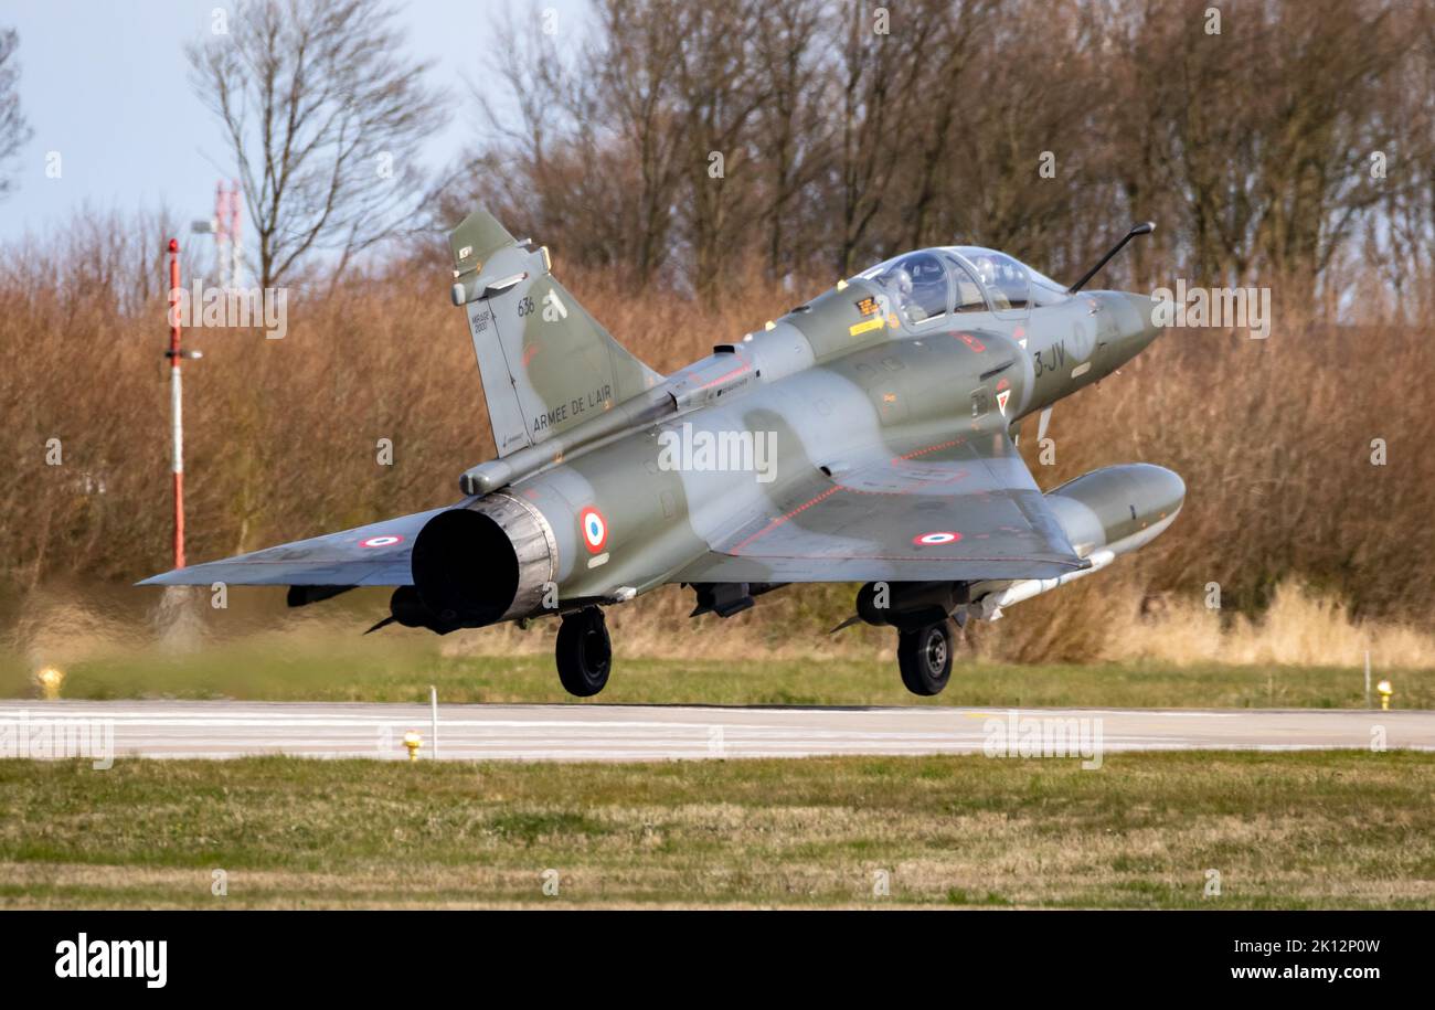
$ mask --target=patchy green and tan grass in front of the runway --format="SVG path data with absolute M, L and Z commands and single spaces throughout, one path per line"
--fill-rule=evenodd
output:
M 1431 908 L 1432 799 L 1403 752 L 7 760 L 0 905 Z

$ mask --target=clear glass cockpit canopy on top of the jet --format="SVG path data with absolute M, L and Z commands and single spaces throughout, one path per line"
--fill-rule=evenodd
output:
M 907 252 L 858 278 L 883 288 L 908 327 L 956 313 L 1025 313 L 1071 297 L 1050 277 L 979 245 Z

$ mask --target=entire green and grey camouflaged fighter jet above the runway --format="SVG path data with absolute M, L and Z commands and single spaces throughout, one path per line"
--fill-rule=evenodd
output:
M 290 605 L 396 587 L 397 621 L 446 634 L 561 618 L 558 677 L 591 696 L 603 607 L 669 582 L 730 617 L 792 582 L 862 582 L 903 683 L 951 674 L 951 620 L 1109 564 L 1164 531 L 1181 478 L 1106 466 L 1042 494 L 1023 417 L 1111 374 L 1158 330 L 1151 298 L 1066 288 L 993 250 L 927 248 L 839 281 L 662 376 L 486 211 L 449 235 L 497 458 L 446 508 L 179 568 L 161 585 L 287 585 Z M 372 628 L 370 628 L 372 630 Z

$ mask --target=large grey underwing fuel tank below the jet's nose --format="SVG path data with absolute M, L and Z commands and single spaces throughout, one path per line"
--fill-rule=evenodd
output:
M 1105 568 L 1159 537 L 1184 502 L 1185 482 L 1180 475 L 1151 463 L 1104 466 L 1048 491 L 1046 504 L 1066 539 L 1091 567 L 1059 578 L 974 582 L 967 613 L 994 621 L 1003 607 Z

